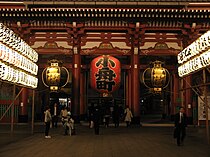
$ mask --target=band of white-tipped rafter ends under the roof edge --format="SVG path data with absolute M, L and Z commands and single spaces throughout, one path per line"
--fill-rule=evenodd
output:
M 153 9 L 153 8 L 0 8 L 0 18 L 21 19 L 29 17 L 37 18 L 124 18 L 138 20 L 199 20 L 206 21 L 210 18 L 209 9 Z M 28 19 L 29 20 L 29 19 Z

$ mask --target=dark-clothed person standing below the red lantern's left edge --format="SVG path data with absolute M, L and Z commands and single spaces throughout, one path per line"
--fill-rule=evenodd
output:
M 93 112 L 94 131 L 96 135 L 99 135 L 100 116 L 101 114 L 100 114 L 99 106 L 96 106 Z

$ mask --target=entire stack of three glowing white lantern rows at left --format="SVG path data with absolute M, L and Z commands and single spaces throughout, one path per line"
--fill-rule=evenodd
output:
M 37 88 L 38 53 L 0 23 L 0 81 Z

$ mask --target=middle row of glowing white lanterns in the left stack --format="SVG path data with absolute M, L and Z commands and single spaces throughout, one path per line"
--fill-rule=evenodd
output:
M 38 66 L 28 58 L 19 54 L 17 51 L 9 48 L 0 42 L 0 59 L 17 68 L 21 68 L 33 75 L 37 75 Z

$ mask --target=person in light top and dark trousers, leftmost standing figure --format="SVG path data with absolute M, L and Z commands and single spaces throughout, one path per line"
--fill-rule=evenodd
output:
M 49 136 L 49 130 L 50 130 L 50 122 L 52 120 L 51 113 L 50 113 L 50 107 L 46 106 L 46 110 L 44 112 L 44 122 L 45 122 L 45 138 L 51 138 Z

